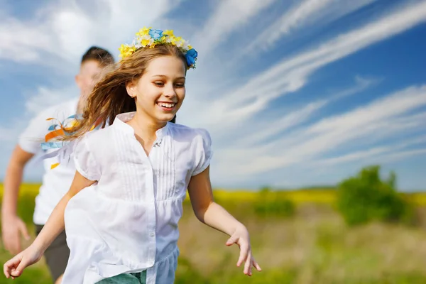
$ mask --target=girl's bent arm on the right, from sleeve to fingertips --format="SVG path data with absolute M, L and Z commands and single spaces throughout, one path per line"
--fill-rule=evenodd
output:
M 241 266 L 244 261 L 244 274 L 246 275 L 251 275 L 251 266 L 261 271 L 261 267 L 251 255 L 249 231 L 247 231 L 246 226 L 213 201 L 209 167 L 191 178 L 188 193 L 197 219 L 231 236 L 226 241 L 227 246 L 237 244 L 240 247 L 240 256 L 236 266 Z

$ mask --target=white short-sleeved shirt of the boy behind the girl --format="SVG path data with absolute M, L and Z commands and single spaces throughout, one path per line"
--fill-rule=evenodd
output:
M 49 107 L 40 114 L 31 119 L 26 129 L 21 133 L 18 139 L 18 145 L 28 153 L 35 155 L 43 155 L 50 151 L 43 151 L 41 143 L 45 142 L 45 136 L 48 134 L 49 127 L 58 122 L 65 121 L 67 117 L 76 114 L 78 99 L 72 99 L 62 104 L 57 104 Z M 47 119 L 53 118 L 54 120 L 48 121 Z M 53 212 L 56 204 L 70 189 L 72 179 L 75 175 L 74 161 L 70 159 L 69 163 L 60 163 L 58 167 L 51 169 L 54 162 L 53 159 L 48 158 L 41 162 L 43 163 L 44 173 L 43 182 L 40 186 L 40 192 L 35 197 L 35 209 L 33 214 L 34 224 L 44 225 Z M 38 165 L 33 165 L 37 167 Z

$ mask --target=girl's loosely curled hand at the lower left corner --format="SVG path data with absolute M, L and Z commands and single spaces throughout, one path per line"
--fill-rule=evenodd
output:
M 28 246 L 28 249 L 18 253 L 14 258 L 4 263 L 4 275 L 6 275 L 6 278 L 11 277 L 12 279 L 19 277 L 24 268 L 40 261 L 42 256 L 43 251 L 40 251 L 34 245 Z

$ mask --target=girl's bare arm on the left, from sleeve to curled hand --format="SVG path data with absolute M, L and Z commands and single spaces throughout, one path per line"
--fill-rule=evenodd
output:
M 89 185 L 92 185 L 95 181 L 87 180 L 77 171 L 75 172 L 74 180 L 70 190 L 62 197 L 60 202 L 53 209 L 52 214 L 46 222 L 43 229 L 38 234 L 37 238 L 33 241 L 33 244 L 28 249 L 18 253 L 14 258 L 4 263 L 4 275 L 6 278 L 18 277 L 22 274 L 22 271 L 27 266 L 36 263 L 43 256 L 43 252 L 52 244 L 53 240 L 64 230 L 64 212 L 67 207 L 68 201 L 76 195 L 80 190 Z

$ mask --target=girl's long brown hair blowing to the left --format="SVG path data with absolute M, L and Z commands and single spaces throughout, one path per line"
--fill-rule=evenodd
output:
M 139 79 L 148 67 L 148 63 L 159 56 L 176 56 L 187 67 L 185 55 L 175 45 L 161 44 L 155 48 L 141 48 L 129 57 L 124 58 L 116 65 L 111 65 L 111 70 L 104 75 L 87 98 L 82 119 L 65 136 L 60 136 L 60 141 L 70 141 L 80 138 L 94 126 L 111 125 L 117 114 L 136 111 L 135 99 L 126 91 L 126 84 Z

